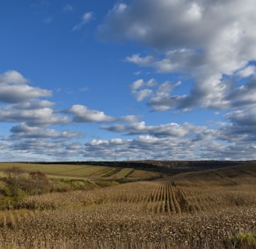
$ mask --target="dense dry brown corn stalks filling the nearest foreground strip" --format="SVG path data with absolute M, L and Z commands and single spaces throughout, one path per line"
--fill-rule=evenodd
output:
M 255 209 L 169 216 L 141 215 L 134 210 L 132 214 L 130 208 L 123 203 L 94 209 L 9 212 L 0 217 L 0 244 L 18 248 L 161 248 L 175 244 L 203 248 L 208 244 L 222 248 L 226 238 L 256 228 Z

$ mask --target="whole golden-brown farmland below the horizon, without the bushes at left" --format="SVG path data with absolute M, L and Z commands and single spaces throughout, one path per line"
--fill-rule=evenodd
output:
M 0 163 L 3 177 L 9 166 Z M 256 163 L 180 174 L 132 164 L 16 166 L 94 188 L 23 195 L 0 212 L 1 248 L 256 248 Z

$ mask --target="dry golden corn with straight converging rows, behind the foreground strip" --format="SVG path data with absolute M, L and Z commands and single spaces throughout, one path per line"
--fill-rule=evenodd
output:
M 62 209 L 105 204 L 132 204 L 144 213 L 187 213 L 256 205 L 254 186 L 199 188 L 172 181 L 141 181 L 91 191 L 30 196 L 18 209 Z

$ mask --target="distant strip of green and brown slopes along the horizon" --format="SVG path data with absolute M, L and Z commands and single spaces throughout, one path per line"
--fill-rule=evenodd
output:
M 167 161 L 168 162 L 168 161 Z M 169 167 L 171 163 L 165 161 L 153 161 L 141 163 L 133 162 L 107 162 L 93 164 L 75 164 L 75 163 L 0 163 L 0 176 L 5 176 L 5 170 L 11 167 L 21 167 L 26 173 L 31 171 L 40 170 L 48 177 L 66 177 L 66 178 L 81 178 L 81 179 L 109 179 L 109 180 L 151 180 L 165 176 L 165 180 L 178 181 L 207 181 L 219 184 L 236 184 L 238 182 L 254 181 L 256 176 L 256 162 L 244 162 L 238 164 L 234 162 L 234 166 L 230 163 L 226 167 L 220 167 L 217 162 L 216 167 L 211 161 L 212 168 L 208 169 L 209 162 L 200 162 L 195 166 L 195 162 L 190 162 L 191 166 L 183 167 L 182 161 L 179 165 L 182 167 L 174 166 Z M 186 162 L 187 163 L 187 162 Z M 165 165 L 166 164 L 166 165 Z M 197 165 L 197 164 L 196 164 Z M 225 165 L 225 164 L 223 164 Z

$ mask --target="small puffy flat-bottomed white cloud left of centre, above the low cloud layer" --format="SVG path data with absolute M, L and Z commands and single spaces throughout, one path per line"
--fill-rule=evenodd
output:
M 103 111 L 90 110 L 87 107 L 76 104 L 66 110 L 66 113 L 73 114 L 75 122 L 112 122 L 115 117 L 107 116 Z

